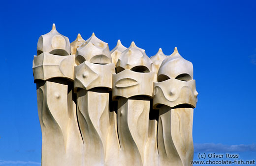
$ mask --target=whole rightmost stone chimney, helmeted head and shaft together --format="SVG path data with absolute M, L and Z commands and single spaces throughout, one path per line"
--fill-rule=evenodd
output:
M 160 108 L 158 151 L 160 166 L 190 166 L 193 159 L 193 108 L 198 93 L 192 63 L 174 52 L 163 60 L 154 82 L 153 107 Z

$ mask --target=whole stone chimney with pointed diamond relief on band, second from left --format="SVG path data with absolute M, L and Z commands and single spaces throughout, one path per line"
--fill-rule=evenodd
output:
M 74 71 L 78 122 L 86 166 L 103 165 L 106 160 L 112 73 L 115 73 L 115 64 L 112 63 L 108 44 L 93 33 L 77 48 Z

